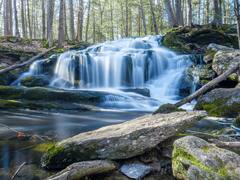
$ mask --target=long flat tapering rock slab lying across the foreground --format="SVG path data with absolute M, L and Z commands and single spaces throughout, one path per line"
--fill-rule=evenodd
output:
M 74 162 L 128 159 L 141 155 L 205 116 L 202 111 L 146 115 L 118 125 L 81 133 L 57 143 L 42 166 L 62 169 Z

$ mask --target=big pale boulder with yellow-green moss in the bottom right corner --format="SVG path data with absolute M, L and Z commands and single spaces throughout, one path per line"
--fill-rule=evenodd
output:
M 177 179 L 235 180 L 240 176 L 240 156 L 187 136 L 174 142 L 172 167 Z

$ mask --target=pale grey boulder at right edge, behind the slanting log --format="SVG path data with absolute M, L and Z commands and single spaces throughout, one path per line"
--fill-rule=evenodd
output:
M 230 52 L 219 51 L 214 56 L 212 69 L 217 73 L 217 75 L 221 75 L 229 68 L 230 65 L 238 63 L 239 58 L 240 58 L 239 50 Z M 238 82 L 240 78 L 236 73 L 234 73 L 230 76 L 230 79 Z

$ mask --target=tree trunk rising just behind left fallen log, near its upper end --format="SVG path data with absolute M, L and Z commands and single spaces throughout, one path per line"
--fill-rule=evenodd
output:
M 53 46 L 53 15 L 54 15 L 55 0 L 48 0 L 47 2 L 47 39 L 48 46 Z

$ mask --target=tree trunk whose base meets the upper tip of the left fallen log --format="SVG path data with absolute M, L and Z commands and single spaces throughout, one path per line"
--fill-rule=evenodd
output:
M 58 24 L 58 47 L 62 48 L 64 44 L 64 1 L 60 0 L 59 24 Z

